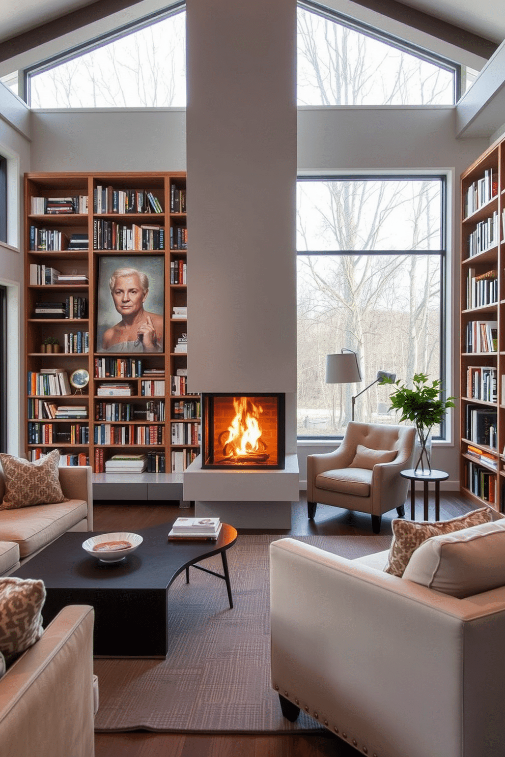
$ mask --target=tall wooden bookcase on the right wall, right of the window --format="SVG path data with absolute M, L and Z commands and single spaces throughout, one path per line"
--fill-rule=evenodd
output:
M 505 506 L 505 141 L 461 176 L 460 488 Z

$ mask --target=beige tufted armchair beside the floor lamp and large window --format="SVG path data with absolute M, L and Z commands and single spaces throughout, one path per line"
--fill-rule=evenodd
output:
M 408 481 L 400 471 L 412 466 L 416 429 L 410 426 L 351 421 L 334 452 L 307 456 L 307 510 L 318 502 L 372 516 L 374 534 L 382 513 L 405 514 Z

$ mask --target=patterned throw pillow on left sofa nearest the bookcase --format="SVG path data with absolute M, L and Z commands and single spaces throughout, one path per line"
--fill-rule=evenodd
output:
M 20 457 L 0 454 L 5 475 L 5 494 L 0 509 L 11 510 L 30 505 L 67 502 L 61 491 L 58 450 L 29 463 Z

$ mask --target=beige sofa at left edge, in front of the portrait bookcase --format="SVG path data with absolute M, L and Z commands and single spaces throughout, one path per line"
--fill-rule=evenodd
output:
M 17 569 L 66 531 L 92 531 L 91 467 L 60 468 L 59 478 L 67 502 L 0 510 L 0 575 Z M 4 493 L 0 468 L 0 501 Z

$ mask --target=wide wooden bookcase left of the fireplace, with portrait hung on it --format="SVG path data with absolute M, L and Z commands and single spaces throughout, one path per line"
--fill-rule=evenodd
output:
M 26 174 L 30 459 L 58 447 L 62 463 L 99 473 L 127 448 L 148 456 L 150 472 L 169 473 L 198 454 L 200 398 L 186 385 L 185 188 L 184 173 Z M 129 343 L 104 351 L 108 280 L 121 266 L 148 273 L 146 310 L 156 304 L 164 332 L 151 351 L 130 352 Z M 70 385 L 78 370 L 89 374 L 81 388 Z

